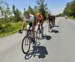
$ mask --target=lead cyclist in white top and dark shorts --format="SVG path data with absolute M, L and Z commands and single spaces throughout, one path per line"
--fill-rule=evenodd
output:
M 33 43 L 35 43 L 35 38 L 34 38 L 35 37 L 35 33 L 34 33 L 34 29 L 35 29 L 34 15 L 31 12 L 29 12 L 28 13 L 28 19 L 26 17 L 24 17 L 24 22 L 25 21 L 28 21 L 29 22 L 28 30 L 30 30 L 32 28 L 32 33 L 33 33 L 32 41 L 33 41 Z M 23 31 L 24 30 L 24 27 L 25 27 L 25 23 L 23 23 L 23 26 L 22 27 L 23 27 L 22 28 L 22 31 Z

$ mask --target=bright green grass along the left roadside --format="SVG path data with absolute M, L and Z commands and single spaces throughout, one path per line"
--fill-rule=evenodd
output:
M 2 24 L 1 26 L 2 29 L 0 30 L 0 37 L 5 37 L 18 32 L 22 27 L 22 22 L 11 22 Z

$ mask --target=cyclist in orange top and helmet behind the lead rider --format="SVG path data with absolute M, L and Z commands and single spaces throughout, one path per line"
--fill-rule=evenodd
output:
M 38 30 L 40 30 L 40 33 L 41 33 L 41 29 L 43 29 L 44 17 L 43 17 L 43 15 L 41 13 L 37 13 L 36 18 L 37 18 L 37 22 L 38 22 Z

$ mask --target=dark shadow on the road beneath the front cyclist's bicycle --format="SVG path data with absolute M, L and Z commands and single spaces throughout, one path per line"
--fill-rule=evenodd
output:
M 25 59 L 28 60 L 32 56 L 38 56 L 38 58 L 45 58 L 48 55 L 47 49 L 44 46 L 33 46 L 33 51 L 30 51 L 25 55 Z

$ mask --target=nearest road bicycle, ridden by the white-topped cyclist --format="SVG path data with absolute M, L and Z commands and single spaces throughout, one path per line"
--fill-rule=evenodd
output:
M 37 40 L 37 32 L 36 31 L 34 31 L 34 33 L 35 33 L 35 36 L 34 36 L 35 43 L 33 42 L 34 41 L 33 40 L 33 31 L 32 30 L 25 30 L 25 31 L 27 33 L 22 40 L 21 47 L 22 47 L 22 52 L 24 54 L 27 54 L 30 51 L 30 47 L 31 47 L 32 44 L 35 45 L 35 46 L 37 46 L 39 44 L 37 44 L 38 40 Z

